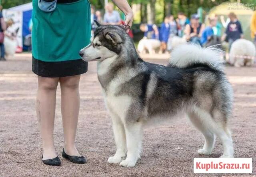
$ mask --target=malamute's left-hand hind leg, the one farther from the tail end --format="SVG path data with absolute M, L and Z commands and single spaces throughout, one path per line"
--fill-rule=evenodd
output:
M 207 123 L 204 122 L 200 112 L 192 111 L 188 113 L 191 123 L 204 135 L 204 147 L 198 149 L 198 154 L 210 155 L 214 147 L 215 135 Z

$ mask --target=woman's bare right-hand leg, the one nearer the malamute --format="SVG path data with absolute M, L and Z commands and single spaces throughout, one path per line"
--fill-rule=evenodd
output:
M 80 156 L 75 147 L 76 128 L 80 107 L 79 81 L 80 75 L 60 78 L 64 151 L 68 155 L 76 156 Z

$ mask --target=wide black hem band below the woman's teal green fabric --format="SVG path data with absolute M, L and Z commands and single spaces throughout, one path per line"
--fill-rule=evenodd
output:
M 47 78 L 59 78 L 74 76 L 87 72 L 88 63 L 82 59 L 62 62 L 44 62 L 32 59 L 32 71 L 38 76 Z

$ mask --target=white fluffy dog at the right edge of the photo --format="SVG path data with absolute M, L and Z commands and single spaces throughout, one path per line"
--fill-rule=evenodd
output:
M 249 40 L 238 39 L 231 45 L 229 60 L 235 67 L 252 66 L 255 56 L 256 48 Z

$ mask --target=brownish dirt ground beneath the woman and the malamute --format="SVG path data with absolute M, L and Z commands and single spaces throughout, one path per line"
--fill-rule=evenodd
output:
M 164 65 L 167 62 L 163 59 L 148 61 Z M 95 62 L 89 64 L 89 71 L 80 82 L 76 145 L 80 154 L 86 156 L 87 163 L 77 165 L 61 157 L 63 132 L 58 88 L 54 141 L 62 165 L 44 165 L 34 106 L 37 80 L 31 65 L 30 54 L 0 62 L 0 176 L 204 176 L 193 173 L 193 157 L 205 157 L 197 154 L 204 138 L 184 117 L 145 129 L 142 156 L 136 167 L 107 163 L 115 152 L 115 145 Z M 256 175 L 256 68 L 227 67 L 226 73 L 235 95 L 234 116 L 230 120 L 234 156 L 252 157 L 253 175 Z M 217 139 L 210 157 L 219 157 L 221 153 Z

